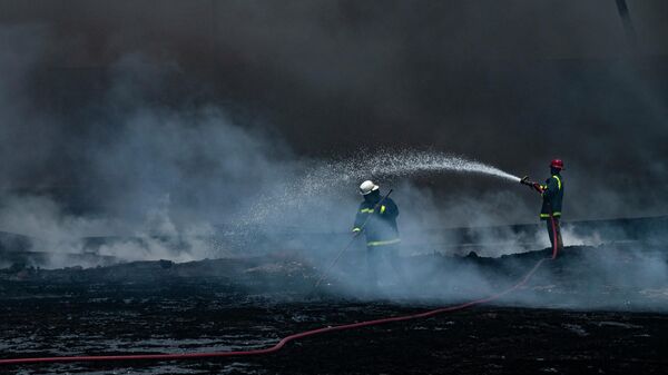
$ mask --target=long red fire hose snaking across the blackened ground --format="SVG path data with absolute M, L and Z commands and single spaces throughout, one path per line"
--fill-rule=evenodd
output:
M 553 219 L 552 219 L 552 230 L 553 230 L 553 234 L 556 234 L 557 230 L 554 229 L 554 220 Z M 325 333 L 330 333 L 330 332 L 336 332 L 336 330 L 346 330 L 346 329 L 375 326 L 375 325 L 393 323 L 393 322 L 404 322 L 404 320 L 411 320 L 411 319 L 426 318 L 426 317 L 431 317 L 431 316 L 434 316 L 438 314 L 455 312 L 455 310 L 464 309 L 464 308 L 468 308 L 471 306 L 481 305 L 481 304 L 485 304 L 485 303 L 499 299 L 502 296 L 504 296 L 504 295 L 520 288 L 524 284 L 527 284 L 527 282 L 529 282 L 531 276 L 533 276 L 533 274 L 536 274 L 536 272 L 538 270 L 538 268 L 540 268 L 540 266 L 543 264 L 543 261 L 546 261 L 548 259 L 557 258 L 557 237 L 554 236 L 553 238 L 554 238 L 554 241 L 553 241 L 554 244 L 552 246 L 552 257 L 551 258 L 542 258 L 542 259 L 538 260 L 538 263 L 533 266 L 533 268 L 531 268 L 529 270 L 529 273 L 527 273 L 527 275 L 518 284 L 511 286 L 510 288 L 508 288 L 503 292 L 494 294 L 492 296 L 471 300 L 471 302 L 463 303 L 463 304 L 455 305 L 455 306 L 436 308 L 433 310 L 419 313 L 419 314 L 412 314 L 412 315 L 395 316 L 395 317 L 389 317 L 389 318 L 382 318 L 382 319 L 366 320 L 366 322 L 360 322 L 360 323 L 344 324 L 341 326 L 333 326 L 333 327 L 331 326 L 331 327 L 323 327 L 323 328 L 306 330 L 306 332 L 286 336 L 283 339 L 281 339 L 276 345 L 274 345 L 272 347 L 263 348 L 263 349 L 235 351 L 235 352 L 210 352 L 210 353 L 184 353 L 184 354 L 91 355 L 91 356 L 69 356 L 69 357 L 10 358 L 10 359 L 0 359 L 0 365 L 27 365 L 27 364 L 38 364 L 38 363 L 69 363 L 69 362 L 144 361 L 144 359 L 174 361 L 174 359 L 254 356 L 254 355 L 264 355 L 264 354 L 276 353 L 281 348 L 283 348 L 285 346 L 285 344 L 287 344 L 292 341 L 295 341 L 295 339 L 304 338 L 304 337 L 315 336 L 315 335 L 325 334 Z

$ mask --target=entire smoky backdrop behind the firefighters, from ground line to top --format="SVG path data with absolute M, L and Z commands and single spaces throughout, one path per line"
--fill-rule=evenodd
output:
M 665 215 L 668 2 L 628 6 L 633 32 L 613 0 L 0 0 L 0 230 L 345 231 L 361 180 L 333 160 L 402 149 L 539 180 L 560 157 L 564 219 Z M 380 181 L 406 231 L 540 208 L 490 177 Z

